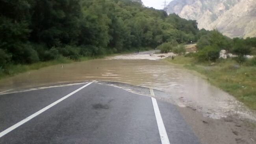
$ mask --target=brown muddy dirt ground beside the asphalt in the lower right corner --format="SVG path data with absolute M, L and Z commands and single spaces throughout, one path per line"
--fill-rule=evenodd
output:
M 256 144 L 255 122 L 235 115 L 211 119 L 191 108 L 178 107 L 178 110 L 202 144 Z

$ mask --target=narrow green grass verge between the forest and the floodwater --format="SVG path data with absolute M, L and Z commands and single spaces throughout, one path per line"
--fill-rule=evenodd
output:
M 23 73 L 23 72 L 26 72 L 26 71 L 29 71 L 29 70 L 38 70 L 40 68 L 49 67 L 49 66 L 52 66 L 52 65 L 74 63 L 74 62 L 79 62 L 79 61 L 87 61 L 87 60 L 91 60 L 91 59 L 104 58 L 106 56 L 116 56 L 116 55 L 120 55 L 120 54 L 129 54 L 129 53 L 134 53 L 135 50 L 137 50 L 137 49 L 124 51 L 124 52 L 117 53 L 117 54 L 105 54 L 105 55 L 102 55 L 102 56 L 80 57 L 78 60 L 72 60 L 70 58 L 66 58 L 66 57 L 61 56 L 58 59 L 54 59 L 54 60 L 50 60 L 50 61 L 44 61 L 44 62 L 32 63 L 32 64 L 28 64 L 28 65 L 24 65 L 24 64 L 13 65 L 13 64 L 11 64 L 5 70 L 2 70 L 0 68 L 0 79 L 15 76 L 16 74 Z M 149 47 L 142 47 L 139 50 L 143 51 L 143 50 L 153 50 L 153 49 L 149 48 Z

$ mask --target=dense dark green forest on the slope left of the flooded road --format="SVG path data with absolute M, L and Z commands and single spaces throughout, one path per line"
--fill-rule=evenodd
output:
M 0 0 L 0 33 L 4 68 L 194 42 L 207 31 L 128 0 Z

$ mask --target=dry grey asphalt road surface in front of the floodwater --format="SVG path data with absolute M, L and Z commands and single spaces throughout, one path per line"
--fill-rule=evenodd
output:
M 0 144 L 169 143 L 199 144 L 176 106 L 121 88 L 93 82 L 0 95 Z

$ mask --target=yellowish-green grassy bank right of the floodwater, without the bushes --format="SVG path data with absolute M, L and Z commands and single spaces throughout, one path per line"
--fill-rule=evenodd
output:
M 250 109 L 256 110 L 255 66 L 238 65 L 232 59 L 222 59 L 211 64 L 196 63 L 194 58 L 184 56 L 166 60 L 203 74 L 209 83 L 233 95 Z

